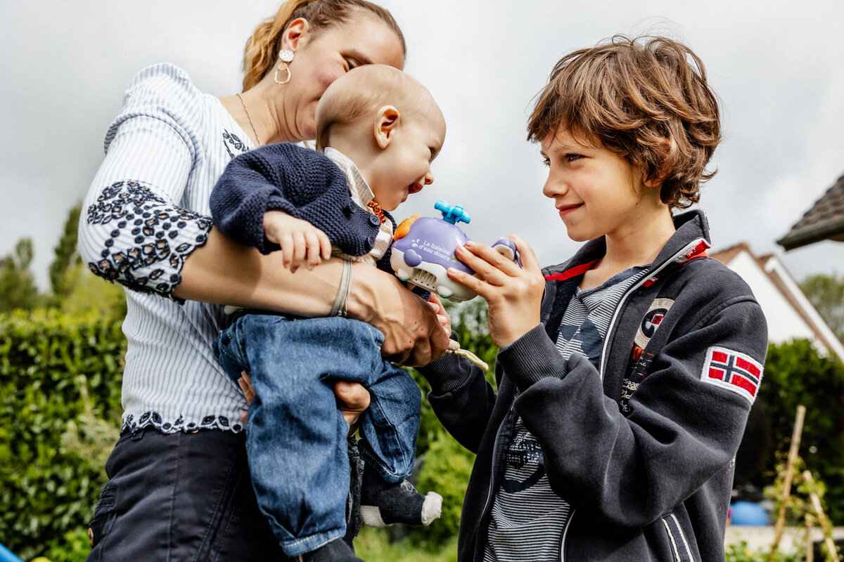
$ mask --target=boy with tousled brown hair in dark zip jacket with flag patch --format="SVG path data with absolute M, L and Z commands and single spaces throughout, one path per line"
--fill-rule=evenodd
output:
M 449 276 L 489 302 L 498 393 L 460 357 L 422 369 L 477 459 L 458 559 L 722 562 L 733 458 L 762 377 L 765 318 L 706 257 L 697 201 L 721 132 L 701 61 L 660 37 L 557 63 L 529 120 L 543 193 L 587 241 L 540 270 L 483 244 Z

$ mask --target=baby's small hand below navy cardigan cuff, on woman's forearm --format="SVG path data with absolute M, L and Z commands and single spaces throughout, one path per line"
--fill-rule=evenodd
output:
M 322 260 L 331 257 L 328 235 L 310 222 L 291 217 L 282 211 L 264 213 L 264 236 L 281 246 L 284 267 L 293 272 L 305 261 L 312 270 Z

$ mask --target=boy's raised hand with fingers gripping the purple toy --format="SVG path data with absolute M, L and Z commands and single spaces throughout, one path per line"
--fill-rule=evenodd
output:
M 539 306 L 545 291 L 545 280 L 533 249 L 522 238 L 507 238 L 516 243 L 522 267 L 490 246 L 469 241 L 465 247 L 458 246 L 455 254 L 476 275 L 454 268 L 448 270 L 451 279 L 486 299 L 490 336 L 499 347 L 510 345 L 539 324 Z

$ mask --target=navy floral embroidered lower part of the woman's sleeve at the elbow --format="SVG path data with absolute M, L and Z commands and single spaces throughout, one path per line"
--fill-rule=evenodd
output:
M 88 207 L 86 221 L 108 228 L 96 275 L 138 292 L 170 297 L 181 281 L 185 258 L 205 244 L 211 220 L 169 205 L 137 181 L 120 181 Z

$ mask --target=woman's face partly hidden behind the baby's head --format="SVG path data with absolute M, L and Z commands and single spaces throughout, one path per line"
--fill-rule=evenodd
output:
M 304 31 L 293 51 L 290 82 L 279 88 L 285 88 L 284 127 L 296 140 L 316 138 L 317 102 L 345 72 L 364 64 L 404 67 L 398 35 L 381 19 L 365 13 L 316 35 Z

